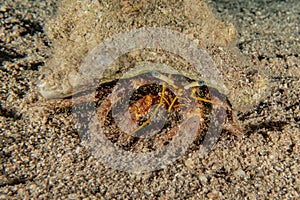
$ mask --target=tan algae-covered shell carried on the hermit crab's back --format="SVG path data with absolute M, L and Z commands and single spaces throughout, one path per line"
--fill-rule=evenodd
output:
M 146 29 L 137 29 L 138 27 L 164 27 L 173 32 L 170 31 L 170 35 L 153 33 L 157 37 L 153 39 L 151 31 L 145 35 Z M 197 48 L 201 46 L 203 51 L 208 46 L 226 46 L 236 35 L 233 25 L 217 20 L 202 0 L 172 3 L 161 0 L 159 3 L 149 1 L 143 4 L 137 1 L 130 5 L 117 0 L 63 0 L 58 16 L 48 23 L 46 32 L 54 44 L 51 58 L 41 68 L 42 76 L 38 84 L 40 93 L 46 98 L 70 96 L 90 88 L 95 80 L 97 84 L 101 84 L 121 78 L 134 66 L 121 66 L 113 62 L 123 53 L 136 50 L 131 48 L 134 45 L 142 47 L 141 50 L 158 48 L 168 51 L 158 46 L 164 43 L 164 46 L 169 45 L 173 54 L 181 56 L 181 52 L 193 55 L 190 45 L 183 46 L 186 43 L 174 40 L 173 36 L 185 34 L 185 41 L 188 37 L 195 38 Z M 134 35 L 135 33 L 139 36 Z M 139 41 L 138 37 L 143 40 Z M 109 45 L 117 48 L 112 49 Z M 207 59 L 208 54 L 203 52 L 198 54 L 199 58 L 193 56 L 194 60 L 202 62 L 198 62 L 198 66 L 171 67 L 187 77 L 207 79 L 207 84 L 219 87 L 220 77 L 212 76 L 216 68 Z M 190 62 L 189 58 L 183 58 Z

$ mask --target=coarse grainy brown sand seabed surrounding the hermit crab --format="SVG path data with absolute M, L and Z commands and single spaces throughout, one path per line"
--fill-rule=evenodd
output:
M 102 165 L 81 144 L 70 113 L 57 113 L 55 101 L 37 92 L 39 69 L 51 54 L 44 26 L 55 1 L 1 3 L 0 199 L 299 198 L 300 3 L 208 4 L 235 25 L 236 46 L 263 68 L 270 88 L 237 112 L 242 137 L 225 133 L 203 159 L 187 155 L 136 175 Z

